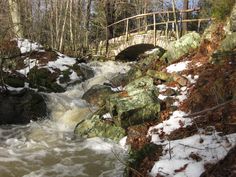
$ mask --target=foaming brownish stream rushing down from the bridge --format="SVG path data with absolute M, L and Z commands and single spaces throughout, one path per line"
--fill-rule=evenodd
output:
M 96 76 L 65 93 L 46 94 L 50 116 L 27 125 L 0 127 L 0 177 L 122 176 L 124 150 L 99 138 L 74 138 L 79 120 L 91 115 L 81 96 L 94 84 L 108 81 L 126 64 L 90 63 Z

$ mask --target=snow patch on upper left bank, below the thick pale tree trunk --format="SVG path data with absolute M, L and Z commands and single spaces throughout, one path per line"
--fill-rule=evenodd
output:
M 44 51 L 41 48 L 43 47 L 39 43 L 31 42 L 29 39 L 16 39 L 17 45 L 21 51 L 21 53 L 27 53 L 31 51 Z

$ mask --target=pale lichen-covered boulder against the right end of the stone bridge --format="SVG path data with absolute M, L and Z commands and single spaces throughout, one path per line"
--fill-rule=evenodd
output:
M 201 37 L 198 33 L 188 33 L 179 40 L 172 42 L 167 52 L 161 57 L 161 60 L 172 63 L 192 50 L 197 49 L 200 46 L 200 42 Z

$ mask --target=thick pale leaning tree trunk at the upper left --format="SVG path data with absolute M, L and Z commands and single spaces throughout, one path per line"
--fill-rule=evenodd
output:
M 13 23 L 13 32 L 16 37 L 23 37 L 22 24 L 19 12 L 19 2 L 17 0 L 8 0 L 10 15 Z

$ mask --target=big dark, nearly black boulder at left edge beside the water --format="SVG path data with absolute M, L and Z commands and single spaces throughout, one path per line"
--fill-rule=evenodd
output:
M 24 89 L 0 94 L 0 124 L 25 124 L 46 115 L 47 106 L 39 93 Z

